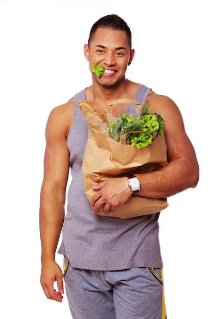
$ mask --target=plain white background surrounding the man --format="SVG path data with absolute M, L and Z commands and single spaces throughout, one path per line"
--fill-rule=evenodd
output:
M 39 283 L 44 129 L 55 106 L 91 84 L 83 45 L 91 25 L 111 13 L 123 17 L 133 35 L 127 78 L 178 104 L 200 164 L 197 188 L 169 198 L 160 217 L 168 318 L 212 318 L 210 1 L 0 0 L 4 319 L 70 317 L 66 297 L 62 304 L 46 299 Z

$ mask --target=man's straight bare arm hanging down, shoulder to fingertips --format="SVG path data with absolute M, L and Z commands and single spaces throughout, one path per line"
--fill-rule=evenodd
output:
M 64 104 L 55 108 L 45 130 L 44 176 L 40 194 L 41 285 L 47 298 L 62 301 L 62 271 L 55 262 L 55 252 L 63 221 L 66 183 L 69 171 L 69 152 L 66 137 L 67 118 L 71 114 Z M 58 291 L 53 287 L 57 281 Z

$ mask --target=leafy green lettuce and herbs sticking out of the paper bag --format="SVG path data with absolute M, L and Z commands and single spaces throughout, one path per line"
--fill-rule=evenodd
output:
M 153 131 L 161 135 L 163 132 L 163 119 L 160 115 L 148 113 L 148 108 L 143 108 L 141 114 L 127 116 L 123 113 L 121 118 L 108 119 L 109 133 L 111 137 L 120 142 L 121 136 L 126 134 L 126 142 L 135 145 L 137 148 L 147 146 L 152 143 Z M 140 131 L 139 133 L 134 131 Z

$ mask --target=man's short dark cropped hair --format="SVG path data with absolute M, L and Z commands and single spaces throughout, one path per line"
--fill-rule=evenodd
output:
M 108 14 L 102 18 L 100 18 L 98 21 L 96 21 L 90 30 L 89 33 L 89 39 L 88 39 L 88 46 L 90 46 L 91 39 L 96 33 L 97 29 L 99 28 L 106 28 L 106 29 L 111 29 L 111 30 L 120 30 L 120 31 L 125 31 L 127 35 L 127 39 L 129 42 L 130 49 L 132 48 L 132 34 L 130 31 L 129 26 L 127 25 L 126 21 L 119 17 L 116 14 Z

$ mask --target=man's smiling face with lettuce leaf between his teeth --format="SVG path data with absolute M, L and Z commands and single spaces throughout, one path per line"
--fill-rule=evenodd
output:
M 125 78 L 128 63 L 131 63 L 134 50 L 130 50 L 124 31 L 100 28 L 86 45 L 84 54 L 89 59 L 89 68 L 101 64 L 105 72 L 99 78 L 92 73 L 93 79 L 105 86 L 112 86 Z

